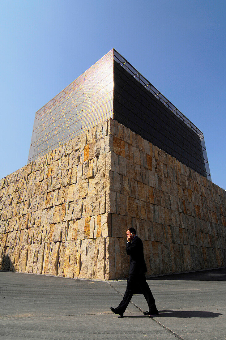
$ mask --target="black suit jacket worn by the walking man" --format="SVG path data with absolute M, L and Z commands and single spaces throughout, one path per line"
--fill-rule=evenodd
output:
M 144 261 L 143 243 L 138 236 L 126 244 L 126 253 L 130 258 L 129 274 L 141 274 L 147 271 Z

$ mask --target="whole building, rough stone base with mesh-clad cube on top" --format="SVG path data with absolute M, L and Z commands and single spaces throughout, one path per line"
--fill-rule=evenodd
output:
M 202 132 L 113 49 L 36 113 L 28 164 L 0 180 L 0 270 L 124 278 L 131 226 L 148 276 L 223 267 L 209 178 Z

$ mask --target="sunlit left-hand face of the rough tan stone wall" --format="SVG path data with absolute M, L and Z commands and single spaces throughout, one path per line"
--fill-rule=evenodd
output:
M 0 182 L 0 269 L 108 278 L 106 121 Z

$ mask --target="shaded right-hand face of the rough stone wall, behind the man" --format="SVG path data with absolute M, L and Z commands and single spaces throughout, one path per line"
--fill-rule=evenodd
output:
M 147 275 L 225 266 L 226 191 L 117 121 L 110 133 L 110 278 L 126 276 L 129 226 L 143 240 Z

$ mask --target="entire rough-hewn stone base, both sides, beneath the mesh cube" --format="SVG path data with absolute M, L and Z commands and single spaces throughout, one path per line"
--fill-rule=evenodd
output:
M 127 276 L 125 230 L 147 275 L 225 266 L 226 193 L 113 119 L 0 181 L 0 269 Z

